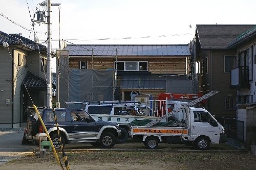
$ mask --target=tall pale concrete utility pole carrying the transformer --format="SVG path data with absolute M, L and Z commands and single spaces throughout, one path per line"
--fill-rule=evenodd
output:
M 51 0 L 47 1 L 48 10 L 48 37 L 47 37 L 47 94 L 46 94 L 46 106 L 52 106 L 52 44 L 51 44 Z

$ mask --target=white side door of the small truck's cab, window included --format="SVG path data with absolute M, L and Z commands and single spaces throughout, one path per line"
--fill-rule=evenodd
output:
M 208 136 L 212 143 L 219 143 L 220 128 L 216 120 L 205 111 L 193 111 L 190 114 L 191 140 L 198 136 Z

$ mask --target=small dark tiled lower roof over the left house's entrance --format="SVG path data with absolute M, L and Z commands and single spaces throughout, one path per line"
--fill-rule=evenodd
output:
M 24 83 L 22 83 L 21 87 L 24 88 L 25 86 L 28 89 L 47 89 L 47 82 L 45 79 L 42 79 L 28 71 L 26 77 L 24 78 Z

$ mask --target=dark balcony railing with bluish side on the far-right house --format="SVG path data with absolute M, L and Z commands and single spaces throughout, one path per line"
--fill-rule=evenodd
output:
M 240 66 L 231 69 L 230 89 L 250 88 L 249 68 Z

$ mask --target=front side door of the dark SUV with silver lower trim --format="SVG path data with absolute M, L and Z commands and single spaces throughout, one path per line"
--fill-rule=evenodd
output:
M 71 140 L 94 140 L 99 127 L 86 111 L 71 110 L 71 123 L 73 127 Z

